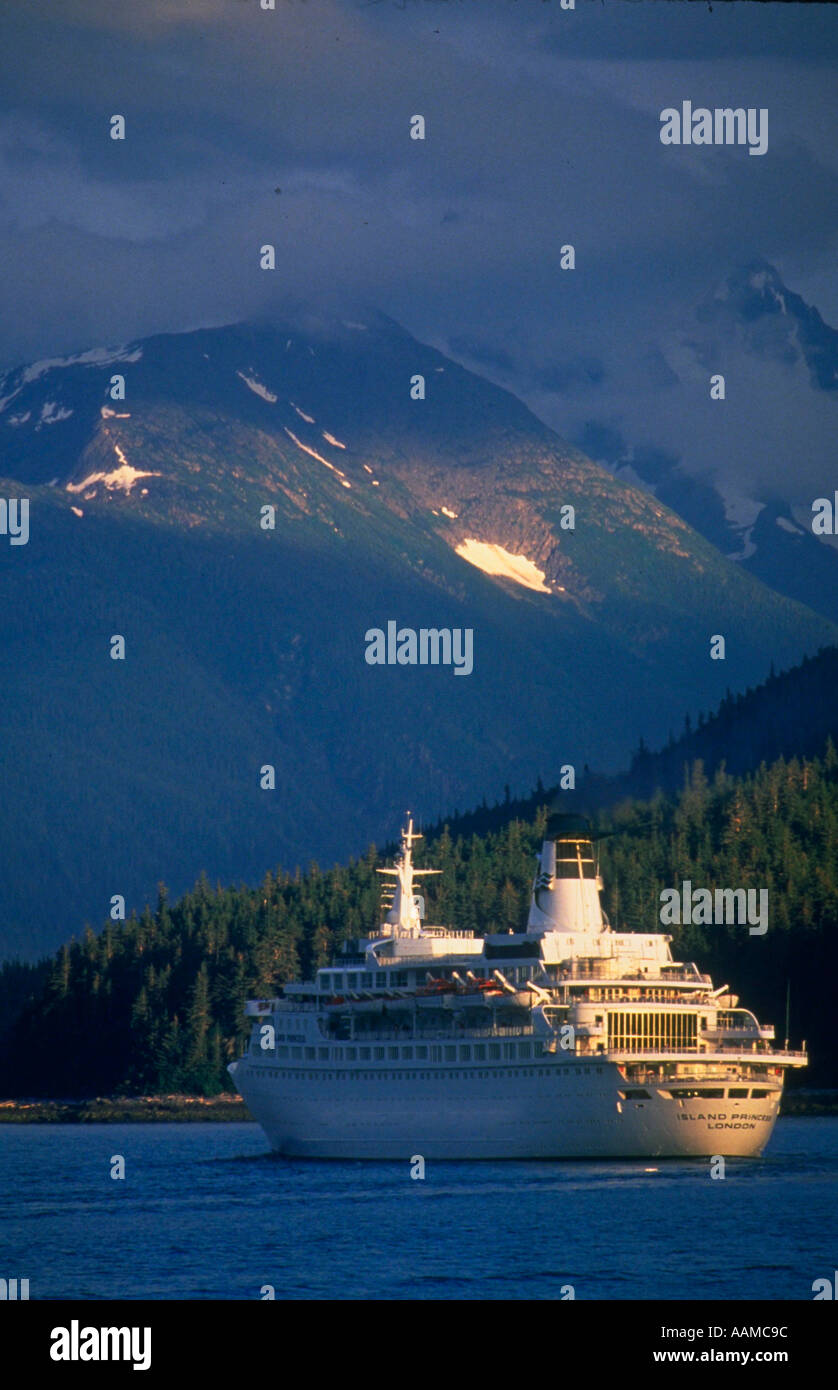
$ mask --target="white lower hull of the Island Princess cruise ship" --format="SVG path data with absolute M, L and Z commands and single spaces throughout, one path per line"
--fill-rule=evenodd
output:
M 624 1099 L 614 1063 L 539 1062 L 439 1073 L 275 1070 L 249 1058 L 229 1072 L 278 1154 L 345 1159 L 759 1156 L 780 1105 L 762 1098 L 675 1099 L 649 1086 Z M 742 1091 L 742 1083 L 734 1083 Z M 750 1088 L 748 1088 L 750 1090 Z M 766 1087 L 760 1087 L 766 1090 Z

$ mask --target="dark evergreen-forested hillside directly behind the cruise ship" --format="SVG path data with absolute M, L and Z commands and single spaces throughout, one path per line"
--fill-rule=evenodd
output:
M 495 812 L 499 815 L 500 809 Z M 443 870 L 431 920 L 475 931 L 520 929 L 546 806 L 482 835 L 429 837 L 422 859 Z M 769 931 L 685 927 L 674 951 L 728 981 L 782 1041 L 787 984 L 791 1036 L 806 1038 L 805 1084 L 838 1081 L 832 1012 L 838 979 L 838 755 L 778 759 L 753 776 L 695 763 L 674 798 L 625 802 L 611 824 L 631 833 L 602 842 L 606 908 L 618 927 L 659 927 L 660 891 L 695 887 L 769 890 Z M 456 830 L 456 827 L 454 827 Z M 227 1062 L 246 1036 L 242 1005 L 285 980 L 309 976 L 345 937 L 378 922 L 374 849 L 322 873 L 281 870 L 258 888 L 203 880 L 170 903 L 101 933 L 88 930 L 51 965 L 0 972 L 31 998 L 0 1045 L 0 1093 L 90 1095 L 113 1091 L 227 1088 Z M 670 929 L 667 929 L 670 930 Z M 46 972 L 46 974 L 44 974 Z M 26 976 L 26 980 L 24 979 Z M 8 1016 L 8 1015 L 7 1015 Z

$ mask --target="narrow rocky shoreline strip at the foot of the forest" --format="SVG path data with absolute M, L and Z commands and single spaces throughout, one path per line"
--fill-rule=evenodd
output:
M 838 1115 L 838 1091 L 791 1091 L 780 1118 Z M 222 1095 L 97 1095 L 92 1099 L 0 1099 L 0 1125 L 150 1125 L 252 1123 L 238 1094 Z

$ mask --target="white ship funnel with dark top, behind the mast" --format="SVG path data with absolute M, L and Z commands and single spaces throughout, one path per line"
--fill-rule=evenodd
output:
M 593 830 L 584 816 L 550 816 L 532 884 L 528 931 L 605 931 Z

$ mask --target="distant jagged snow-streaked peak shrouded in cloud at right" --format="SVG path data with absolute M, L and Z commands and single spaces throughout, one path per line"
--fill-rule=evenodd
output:
M 682 448 L 666 428 L 656 435 L 645 421 L 641 435 L 613 418 L 586 420 L 577 445 L 649 488 L 750 574 L 838 620 L 838 548 L 812 531 L 814 498 L 832 495 L 838 329 L 775 265 L 753 260 L 650 357 L 662 416 L 678 414 Z M 724 402 L 707 399 L 713 373 L 725 377 Z

